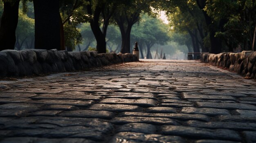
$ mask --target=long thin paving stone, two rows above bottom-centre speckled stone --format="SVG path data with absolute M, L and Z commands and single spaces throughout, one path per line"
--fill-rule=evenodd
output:
M 115 117 L 110 122 L 114 124 L 148 123 L 153 125 L 179 125 L 179 123 L 172 119 L 157 117 Z

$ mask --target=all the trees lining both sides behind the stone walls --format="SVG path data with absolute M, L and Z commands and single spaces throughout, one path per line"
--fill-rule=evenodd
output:
M 107 47 L 110 51 L 119 51 L 121 47 L 121 53 L 130 53 L 130 43 L 138 41 L 140 47 L 147 48 L 146 56 L 149 57 L 153 44 L 164 44 L 170 38 L 163 28 L 166 26 L 162 26 L 157 19 L 150 20 L 148 15 L 141 16 L 141 13 L 155 16 L 155 12 L 159 11 L 165 11 L 169 17 L 171 40 L 186 45 L 191 52 L 220 53 L 234 51 L 236 47 L 256 50 L 255 0 L 2 1 L 0 50 L 34 45 L 35 48 L 66 48 L 71 51 L 76 45 L 81 48 L 81 41 L 85 39 L 89 41 L 85 46 L 88 49 L 95 37 L 98 53 L 106 53 Z M 34 20 L 31 16 L 22 15 L 20 1 L 23 13 L 27 11 L 27 2 L 33 2 Z M 15 31 L 18 22 L 25 22 L 22 25 L 32 30 L 34 28 L 35 36 L 22 27 Z M 135 24 L 137 22 L 140 26 Z M 120 35 L 107 33 L 117 31 L 113 25 L 119 27 Z M 138 34 L 131 36 L 132 29 Z M 27 33 L 27 36 L 19 36 L 19 33 Z M 115 38 L 108 38 L 107 35 Z M 34 39 L 30 40 L 34 42 L 27 42 L 27 39 Z M 117 44 L 120 39 L 121 44 Z M 113 46 L 117 48 L 112 49 Z M 142 50 L 141 56 L 144 57 Z

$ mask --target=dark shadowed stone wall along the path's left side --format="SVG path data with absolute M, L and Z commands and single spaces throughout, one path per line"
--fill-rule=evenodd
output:
M 0 52 L 0 76 L 29 76 L 83 70 L 122 62 L 135 62 L 130 53 L 102 53 L 96 51 L 67 52 L 43 49 Z

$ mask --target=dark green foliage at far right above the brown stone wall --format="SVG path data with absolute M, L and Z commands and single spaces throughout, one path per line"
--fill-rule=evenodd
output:
M 215 36 L 221 37 L 227 46 L 236 48 L 240 45 L 243 50 L 252 48 L 256 24 L 255 0 L 207 0 L 204 11 L 215 22 L 225 21 L 223 29 Z M 244 47 L 248 41 L 249 48 Z

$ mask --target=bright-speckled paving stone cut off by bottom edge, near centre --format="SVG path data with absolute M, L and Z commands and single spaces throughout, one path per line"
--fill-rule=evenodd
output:
M 180 136 L 119 132 L 112 137 L 110 143 L 186 143 L 186 141 Z

